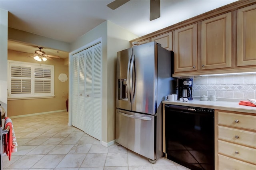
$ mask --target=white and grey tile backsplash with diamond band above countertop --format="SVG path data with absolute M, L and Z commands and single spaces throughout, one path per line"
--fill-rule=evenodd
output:
M 226 99 L 256 99 L 256 74 L 181 78 L 193 78 L 193 97 L 216 95 Z

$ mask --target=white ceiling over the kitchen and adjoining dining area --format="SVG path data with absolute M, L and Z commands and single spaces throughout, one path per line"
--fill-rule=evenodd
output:
M 0 8 L 9 11 L 10 28 L 72 43 L 106 20 L 140 37 L 235 1 L 161 0 L 161 16 L 153 21 L 149 20 L 150 0 L 131 0 L 116 10 L 106 6 L 112 0 L 0 0 Z M 8 49 L 31 53 L 37 49 L 15 44 L 8 43 Z

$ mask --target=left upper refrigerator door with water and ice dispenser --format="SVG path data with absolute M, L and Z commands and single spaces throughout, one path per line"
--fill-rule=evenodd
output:
M 116 108 L 131 110 L 129 93 L 129 68 L 132 59 L 132 48 L 119 51 L 116 59 Z

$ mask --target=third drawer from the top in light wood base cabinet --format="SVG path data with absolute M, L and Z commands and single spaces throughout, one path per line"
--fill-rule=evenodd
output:
M 218 140 L 218 153 L 256 164 L 256 149 Z

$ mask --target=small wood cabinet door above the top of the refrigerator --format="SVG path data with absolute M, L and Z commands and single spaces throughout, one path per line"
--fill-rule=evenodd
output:
M 150 42 L 154 41 L 160 43 L 163 48 L 168 49 L 169 51 L 172 50 L 172 32 L 168 32 L 150 39 Z

